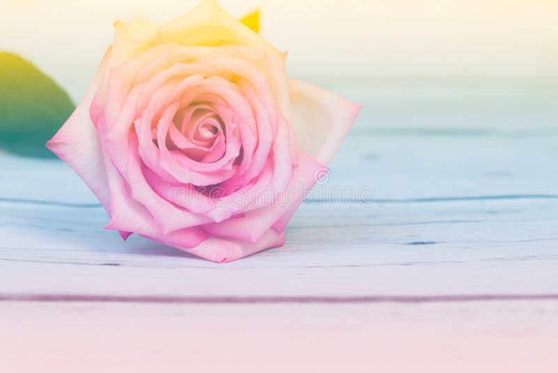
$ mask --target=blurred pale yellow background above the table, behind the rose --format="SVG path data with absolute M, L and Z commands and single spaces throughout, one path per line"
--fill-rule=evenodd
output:
M 167 21 L 196 0 L 4 0 L 0 49 L 37 64 L 78 101 L 115 20 Z M 262 35 L 289 74 L 330 85 L 550 85 L 558 80 L 553 0 L 223 0 L 262 8 Z

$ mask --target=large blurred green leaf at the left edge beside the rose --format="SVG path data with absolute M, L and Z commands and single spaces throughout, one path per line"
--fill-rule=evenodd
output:
M 22 156 L 54 156 L 45 142 L 74 108 L 68 94 L 33 64 L 0 52 L 0 149 Z

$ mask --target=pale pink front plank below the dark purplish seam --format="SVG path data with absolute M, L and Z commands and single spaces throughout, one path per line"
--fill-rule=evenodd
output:
M 2 372 L 558 370 L 557 302 L 4 303 Z

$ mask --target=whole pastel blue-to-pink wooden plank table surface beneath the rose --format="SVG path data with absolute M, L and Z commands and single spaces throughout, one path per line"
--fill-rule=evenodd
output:
M 558 372 L 556 102 L 350 94 L 285 247 L 233 263 L 123 242 L 63 163 L 0 155 L 0 371 Z

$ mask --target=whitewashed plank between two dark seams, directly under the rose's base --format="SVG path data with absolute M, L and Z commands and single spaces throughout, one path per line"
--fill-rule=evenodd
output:
M 285 247 L 220 265 L 98 227 L 100 208 L 3 205 L 2 293 L 556 293 L 558 203 L 304 206 Z

